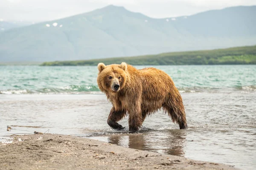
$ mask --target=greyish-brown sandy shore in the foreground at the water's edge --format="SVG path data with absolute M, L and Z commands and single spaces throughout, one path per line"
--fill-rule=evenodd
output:
M 11 144 L 0 144 L 1 170 L 236 169 L 229 165 L 134 150 L 76 136 L 42 134 L 13 137 Z

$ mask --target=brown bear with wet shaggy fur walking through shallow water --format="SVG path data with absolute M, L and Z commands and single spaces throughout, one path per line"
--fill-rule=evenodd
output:
M 161 108 L 186 129 L 186 114 L 179 91 L 171 77 L 156 68 L 136 69 L 122 62 L 120 65 L 98 64 L 97 83 L 113 107 L 108 116 L 108 125 L 121 130 L 117 122 L 129 116 L 130 133 L 138 132 L 147 115 Z

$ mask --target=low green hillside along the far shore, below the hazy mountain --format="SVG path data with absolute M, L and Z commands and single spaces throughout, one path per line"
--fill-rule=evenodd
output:
M 104 62 L 106 65 L 121 62 L 127 62 L 131 65 L 256 64 L 256 45 L 217 50 L 162 53 L 137 57 L 44 62 L 42 65 L 97 65 L 99 62 Z

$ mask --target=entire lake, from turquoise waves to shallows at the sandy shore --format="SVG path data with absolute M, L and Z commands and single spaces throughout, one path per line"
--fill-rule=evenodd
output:
M 145 68 L 146 66 L 137 66 Z M 0 141 L 34 131 L 93 139 L 190 159 L 256 168 L 256 65 L 154 66 L 179 89 L 187 130 L 162 112 L 138 134 L 106 123 L 111 104 L 97 84 L 96 66 L 0 66 Z M 6 131 L 9 125 L 13 129 Z

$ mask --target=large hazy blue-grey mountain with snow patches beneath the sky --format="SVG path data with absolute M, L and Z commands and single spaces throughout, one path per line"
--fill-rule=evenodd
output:
M 0 33 L 0 62 L 96 59 L 255 45 L 255 16 L 256 6 L 238 6 L 154 19 L 111 5 Z

